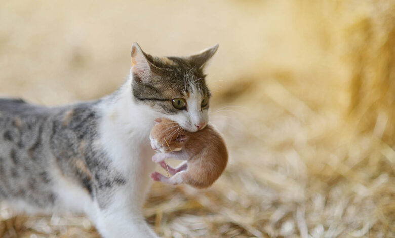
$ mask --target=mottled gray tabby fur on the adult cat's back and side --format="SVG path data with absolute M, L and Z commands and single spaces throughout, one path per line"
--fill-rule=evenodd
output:
M 53 171 L 60 170 L 105 207 L 114 187 L 126 180 L 92 146 L 100 117 L 96 103 L 47 108 L 0 99 L 0 197 L 56 206 Z

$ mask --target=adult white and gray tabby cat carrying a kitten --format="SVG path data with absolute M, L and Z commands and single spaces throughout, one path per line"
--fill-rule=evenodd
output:
M 203 68 L 218 45 L 187 57 L 132 46 L 130 77 L 97 101 L 44 107 L 0 99 L 0 199 L 27 212 L 83 212 L 103 237 L 156 237 L 142 205 L 157 117 L 187 131 L 208 122 Z

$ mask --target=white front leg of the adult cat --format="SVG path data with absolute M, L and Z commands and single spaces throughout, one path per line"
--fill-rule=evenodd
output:
M 139 157 L 132 152 L 129 154 L 125 153 L 123 157 L 134 158 L 128 161 L 132 164 L 123 162 L 118 168 L 123 173 L 125 184 L 113 186 L 110 191 L 97 192 L 97 228 L 104 238 L 157 238 L 142 215 L 142 206 L 152 181 L 149 174 L 155 170 L 155 164 L 150 160 L 153 150 L 150 146 L 143 146 Z

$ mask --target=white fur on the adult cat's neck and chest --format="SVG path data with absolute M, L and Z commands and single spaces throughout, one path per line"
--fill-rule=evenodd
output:
M 117 172 L 127 178 L 129 196 L 143 203 L 155 169 L 151 161 L 154 151 L 150 147 L 149 133 L 157 112 L 132 101 L 131 88 L 126 84 L 114 100 L 100 105 L 102 121 L 100 140 Z

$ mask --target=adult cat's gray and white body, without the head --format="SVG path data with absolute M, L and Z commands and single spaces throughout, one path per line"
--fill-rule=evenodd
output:
M 2 200 L 28 212 L 83 212 L 104 237 L 154 236 L 141 212 L 155 167 L 143 143 L 153 125 L 124 114 L 152 113 L 119 101 L 46 108 L 0 100 Z

